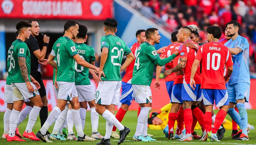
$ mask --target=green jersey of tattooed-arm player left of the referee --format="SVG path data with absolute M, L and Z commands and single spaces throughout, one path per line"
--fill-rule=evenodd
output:
M 18 57 L 26 58 L 27 75 L 30 81 L 30 52 L 27 44 L 21 39 L 16 39 L 10 47 L 10 65 L 12 71 L 11 83 L 25 83 L 24 78 L 21 75 L 21 69 L 18 61 Z

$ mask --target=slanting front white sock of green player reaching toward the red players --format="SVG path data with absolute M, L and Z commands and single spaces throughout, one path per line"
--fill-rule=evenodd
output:
M 151 107 L 141 107 L 141 111 L 138 116 L 135 136 L 140 136 L 143 134 L 144 126 L 148 122 L 147 120 L 148 120 L 148 115 L 149 115 L 150 110 L 151 110 Z

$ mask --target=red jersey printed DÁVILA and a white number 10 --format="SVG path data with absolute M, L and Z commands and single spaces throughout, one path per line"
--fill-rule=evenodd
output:
M 195 59 L 202 60 L 201 88 L 225 90 L 224 66 L 233 66 L 229 49 L 212 41 L 199 47 Z

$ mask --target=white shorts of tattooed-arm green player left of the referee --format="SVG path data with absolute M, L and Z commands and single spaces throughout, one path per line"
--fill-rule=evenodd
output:
M 11 83 L 13 88 L 13 98 L 12 101 L 26 100 L 36 95 L 40 95 L 39 91 L 36 89 L 36 86 L 30 82 L 34 88 L 34 92 L 29 92 L 27 90 L 26 83 Z M 20 95 L 21 94 L 21 95 Z

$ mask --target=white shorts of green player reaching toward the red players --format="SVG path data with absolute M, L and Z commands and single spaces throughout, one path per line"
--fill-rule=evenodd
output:
M 132 84 L 134 99 L 136 103 L 152 103 L 152 92 L 149 86 Z

